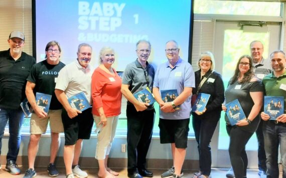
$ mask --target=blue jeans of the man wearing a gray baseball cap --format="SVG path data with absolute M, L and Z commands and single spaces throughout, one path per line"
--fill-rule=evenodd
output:
M 2 138 L 4 130 L 9 121 L 9 142 L 7 162 L 16 162 L 21 143 L 21 126 L 24 120 L 24 113 L 19 109 L 0 109 L 0 154 L 2 148 Z

